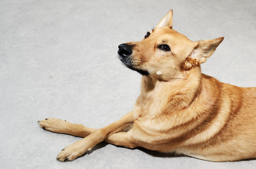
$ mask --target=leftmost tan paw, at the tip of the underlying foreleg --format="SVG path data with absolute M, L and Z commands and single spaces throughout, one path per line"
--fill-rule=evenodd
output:
M 57 118 L 45 118 L 37 122 L 42 129 L 50 132 L 63 133 L 69 128 L 69 122 Z

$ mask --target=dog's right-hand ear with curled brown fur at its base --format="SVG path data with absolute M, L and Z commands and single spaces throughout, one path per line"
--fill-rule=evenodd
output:
M 184 66 L 185 70 L 190 70 L 191 68 L 204 63 L 206 58 L 209 58 L 209 56 L 214 53 L 216 47 L 221 44 L 223 39 L 224 37 L 219 37 L 217 39 L 196 42 L 191 54 L 186 58 Z

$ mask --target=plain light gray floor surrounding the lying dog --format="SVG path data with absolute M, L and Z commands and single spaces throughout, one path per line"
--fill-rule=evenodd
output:
M 77 137 L 42 130 L 54 117 L 103 127 L 132 110 L 140 75 L 117 46 L 144 37 L 170 8 L 191 40 L 226 37 L 202 71 L 255 85 L 256 1 L 0 1 L 1 168 L 256 168 L 100 144 L 76 161 L 55 160 Z

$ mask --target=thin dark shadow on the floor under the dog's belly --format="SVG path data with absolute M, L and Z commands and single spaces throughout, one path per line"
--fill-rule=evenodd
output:
M 88 154 L 91 154 L 93 151 L 97 150 L 97 149 L 101 149 L 105 146 L 107 146 L 108 143 L 106 142 L 101 142 L 99 144 L 97 144 L 96 146 L 93 147 L 93 149 L 91 149 L 91 151 L 88 152 Z M 110 144 L 112 146 L 116 146 L 114 144 Z M 127 147 L 124 147 L 124 146 L 117 146 L 117 147 L 122 147 L 124 149 L 129 149 Z M 158 151 L 152 151 L 152 150 L 149 150 L 149 149 L 145 149 L 143 147 L 138 147 L 136 148 L 140 151 L 143 151 L 144 153 L 146 154 L 149 154 L 150 156 L 154 156 L 154 157 L 162 157 L 162 158 L 173 158 L 173 157 L 184 157 L 185 155 L 182 155 L 182 154 L 175 154 L 175 153 L 161 153 L 161 152 L 158 152 Z

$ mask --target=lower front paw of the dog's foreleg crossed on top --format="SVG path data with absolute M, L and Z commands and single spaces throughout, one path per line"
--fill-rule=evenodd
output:
M 62 149 L 56 159 L 57 161 L 64 162 L 74 161 L 76 158 L 83 156 L 83 154 L 86 154 L 87 152 L 88 149 L 83 145 L 83 140 L 79 140 L 78 142 L 67 146 L 65 149 Z

